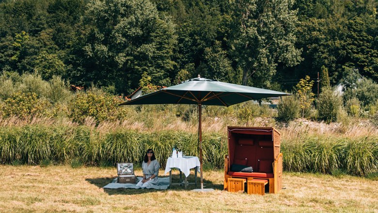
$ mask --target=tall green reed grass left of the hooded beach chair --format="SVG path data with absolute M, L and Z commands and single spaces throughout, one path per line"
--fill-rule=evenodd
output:
M 19 133 L 22 134 L 19 134 Z M 199 155 L 197 135 L 177 131 L 138 132 L 117 129 L 106 135 L 86 126 L 24 126 L 0 128 L 0 163 L 54 161 L 83 165 L 115 165 L 118 162 L 142 163 L 145 151 L 152 148 L 161 166 L 176 146 L 188 156 Z M 227 152 L 225 138 L 219 134 L 203 136 L 204 163 L 222 168 Z

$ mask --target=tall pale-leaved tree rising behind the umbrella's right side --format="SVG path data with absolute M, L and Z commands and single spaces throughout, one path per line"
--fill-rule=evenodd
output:
M 295 47 L 297 16 L 291 0 L 241 0 L 234 3 L 232 48 L 242 84 L 262 86 L 278 63 L 294 66 L 301 61 Z

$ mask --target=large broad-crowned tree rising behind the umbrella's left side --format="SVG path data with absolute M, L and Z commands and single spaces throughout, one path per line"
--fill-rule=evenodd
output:
M 176 69 L 174 25 L 149 0 L 91 1 L 82 29 L 70 59 L 74 81 L 114 84 L 119 93 L 137 88 L 144 72 L 153 84 L 170 83 Z

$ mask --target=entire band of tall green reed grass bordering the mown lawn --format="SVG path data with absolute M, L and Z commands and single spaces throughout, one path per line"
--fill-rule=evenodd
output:
M 225 131 L 221 131 L 222 133 Z M 176 146 L 187 155 L 199 156 L 196 132 L 142 131 L 115 128 L 108 132 L 94 126 L 23 125 L 0 127 L 0 163 L 36 165 L 46 160 L 69 163 L 79 159 L 86 165 L 108 162 L 140 164 L 145 151 L 152 148 L 165 167 Z M 284 170 L 333 173 L 343 170 L 364 176 L 378 170 L 378 137 L 337 137 L 302 134 L 284 137 Z M 203 135 L 204 163 L 222 168 L 227 154 L 227 136 L 220 132 Z

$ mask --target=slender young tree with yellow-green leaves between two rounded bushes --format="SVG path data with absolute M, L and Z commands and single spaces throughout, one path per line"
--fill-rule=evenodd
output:
M 313 85 L 314 81 L 310 81 L 310 76 L 306 76 L 305 79 L 300 79 L 296 86 L 300 108 L 302 109 L 302 118 L 304 118 L 304 110 L 308 109 L 315 100 L 315 94 L 312 92 Z

